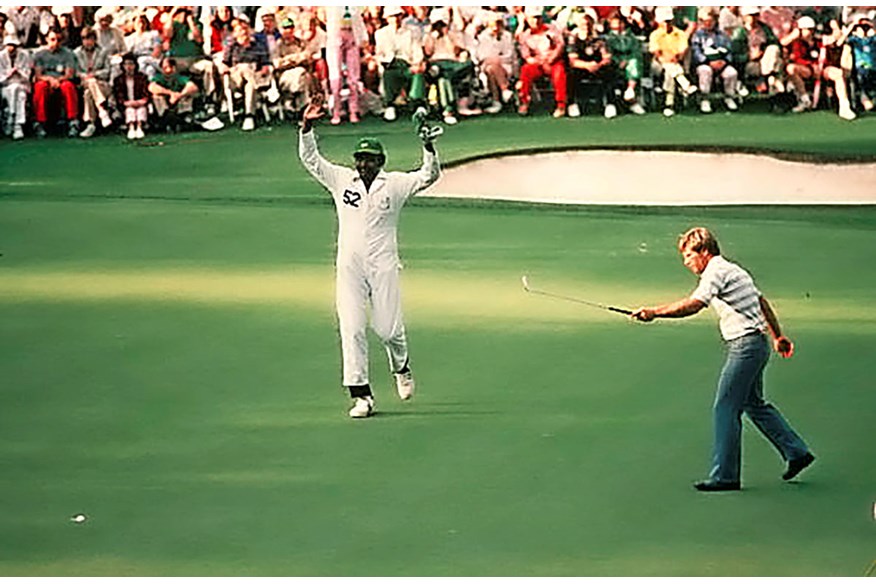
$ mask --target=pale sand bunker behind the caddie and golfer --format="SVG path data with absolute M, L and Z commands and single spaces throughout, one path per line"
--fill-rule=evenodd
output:
M 595 205 L 876 204 L 876 164 L 752 154 L 578 150 L 445 170 L 431 197 Z

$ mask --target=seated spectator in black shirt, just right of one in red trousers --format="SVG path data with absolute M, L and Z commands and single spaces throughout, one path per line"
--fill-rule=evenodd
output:
M 605 103 L 605 117 L 617 116 L 619 72 L 612 62 L 605 40 L 596 35 L 593 19 L 583 13 L 572 16 L 572 32 L 568 39 L 569 87 L 571 91 L 569 117 L 581 115 L 582 95 L 585 82 L 592 82 L 599 92 L 600 102 Z

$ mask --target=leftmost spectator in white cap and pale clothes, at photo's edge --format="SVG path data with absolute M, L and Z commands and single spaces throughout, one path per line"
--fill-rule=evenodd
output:
M 6 103 L 3 131 L 13 140 L 24 138 L 27 122 L 27 100 L 30 97 L 30 76 L 33 59 L 30 53 L 20 48 L 21 42 L 15 32 L 3 36 L 0 51 L 0 99 Z

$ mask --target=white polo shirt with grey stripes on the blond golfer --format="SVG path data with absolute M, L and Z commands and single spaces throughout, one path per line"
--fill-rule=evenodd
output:
M 709 260 L 700 274 L 699 285 L 690 296 L 712 305 L 720 318 L 721 336 L 725 341 L 766 330 L 760 309 L 760 290 L 751 275 L 721 256 Z

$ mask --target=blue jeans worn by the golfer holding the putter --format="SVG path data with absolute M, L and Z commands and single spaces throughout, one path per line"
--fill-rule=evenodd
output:
M 809 452 L 779 410 L 763 399 L 763 371 L 769 357 L 769 343 L 762 334 L 727 342 L 727 360 L 718 379 L 713 409 L 715 443 L 709 473 L 713 481 L 739 482 L 743 412 L 785 460 Z

